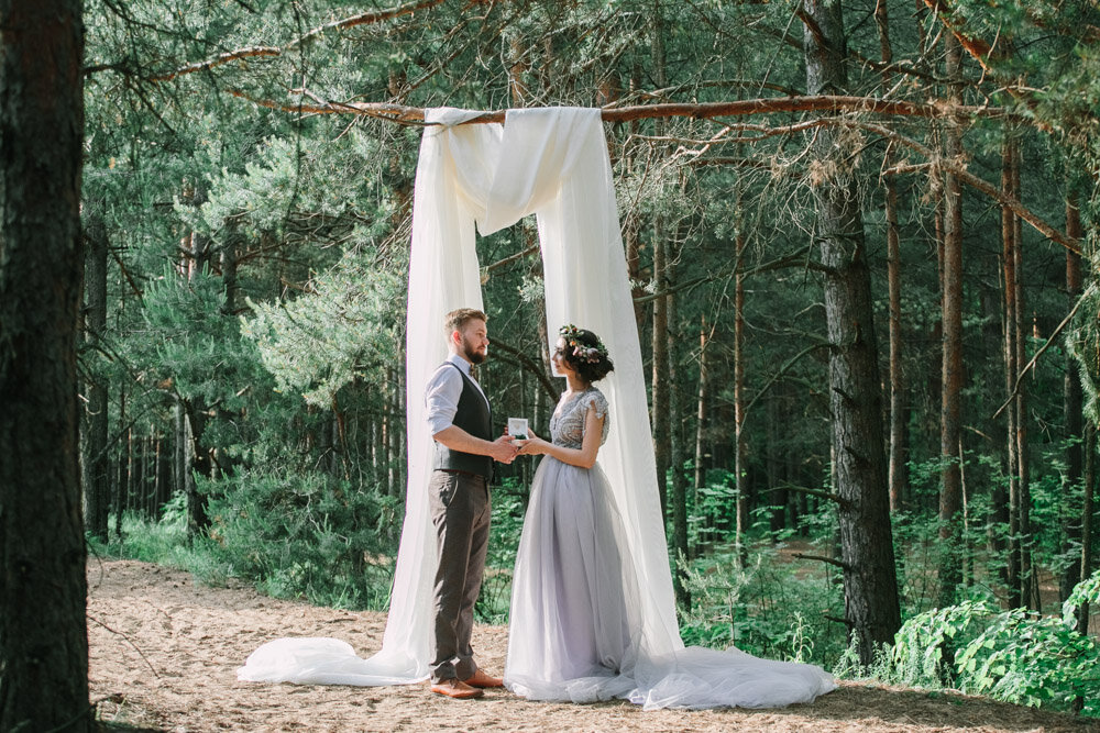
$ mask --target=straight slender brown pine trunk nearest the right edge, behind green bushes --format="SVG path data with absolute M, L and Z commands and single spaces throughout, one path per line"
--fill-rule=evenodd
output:
M 1076 193 L 1066 199 L 1066 234 L 1081 240 L 1085 232 L 1081 226 L 1081 212 L 1077 204 Z M 1066 251 L 1066 295 L 1069 297 L 1069 308 L 1072 308 L 1081 295 L 1081 258 Z M 1062 522 L 1062 552 L 1072 554 L 1081 542 L 1081 522 L 1084 514 L 1079 513 L 1078 496 L 1081 490 L 1081 474 L 1084 468 L 1084 452 L 1081 440 L 1084 432 L 1084 395 L 1081 378 L 1077 371 L 1077 360 L 1066 357 L 1066 377 L 1063 382 L 1063 411 L 1066 415 L 1066 475 L 1062 479 L 1062 501 L 1059 514 Z M 1058 579 L 1058 599 L 1065 601 L 1078 582 L 1084 580 L 1081 565 L 1069 563 Z

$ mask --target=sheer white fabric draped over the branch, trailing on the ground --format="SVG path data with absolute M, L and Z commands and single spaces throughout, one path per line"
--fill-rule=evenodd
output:
M 407 332 L 408 491 L 382 651 L 361 659 L 334 640 L 279 640 L 257 649 L 239 677 L 348 685 L 428 677 L 436 537 L 426 490 L 432 445 L 421 390 L 447 355 L 443 315 L 482 307 L 475 222 L 486 235 L 534 213 L 552 337 L 561 324 L 575 323 L 597 333 L 615 362 L 615 371 L 600 382 L 613 425 L 600 463 L 625 525 L 624 554 L 634 558 L 638 587 L 645 589 L 636 668 L 640 688 L 631 699 L 647 707 L 785 704 L 827 691 L 816 686 L 812 693 L 774 700 L 717 699 L 713 682 L 680 668 L 680 660 L 702 662 L 705 656 L 706 666 L 717 665 L 718 678 L 729 677 L 722 670 L 722 655 L 728 653 L 684 651 L 676 625 L 641 349 L 600 111 L 510 110 L 504 125 L 459 124 L 477 114 L 449 108 L 426 113 L 427 122 L 440 124 L 425 130 L 416 176 Z

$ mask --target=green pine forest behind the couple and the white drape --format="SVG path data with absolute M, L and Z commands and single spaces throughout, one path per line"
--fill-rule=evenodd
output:
M 600 107 L 685 641 L 1100 715 L 1092 3 L 84 20 L 94 552 L 384 609 L 421 110 Z M 546 431 L 535 222 L 477 246 L 482 382 Z M 532 469 L 494 487 L 483 621 Z

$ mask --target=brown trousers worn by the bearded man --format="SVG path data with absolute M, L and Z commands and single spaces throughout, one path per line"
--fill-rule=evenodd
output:
M 428 482 L 437 557 L 431 679 L 469 679 L 477 671 L 470 635 L 488 548 L 488 481 L 435 470 Z

